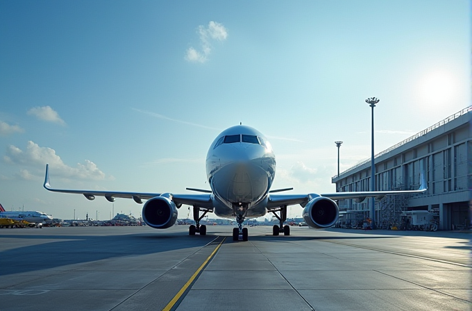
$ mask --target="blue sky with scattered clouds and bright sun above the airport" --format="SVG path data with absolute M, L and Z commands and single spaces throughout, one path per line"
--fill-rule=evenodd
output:
M 376 153 L 470 105 L 470 17 L 460 0 L 0 1 L 0 203 L 110 218 L 42 189 L 47 162 L 53 187 L 208 188 L 208 147 L 239 122 L 269 137 L 273 187 L 335 192 L 335 141 L 341 171 L 370 158 L 366 98 Z

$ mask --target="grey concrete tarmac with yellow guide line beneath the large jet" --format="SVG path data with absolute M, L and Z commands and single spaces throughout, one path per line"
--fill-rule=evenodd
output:
M 471 310 L 468 233 L 0 230 L 0 311 Z

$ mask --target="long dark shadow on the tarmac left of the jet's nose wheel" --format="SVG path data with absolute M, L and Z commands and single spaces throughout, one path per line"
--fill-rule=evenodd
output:
M 20 246 L 0 252 L 0 276 L 40 271 L 71 264 L 81 264 L 120 258 L 149 255 L 187 248 L 201 248 L 215 236 L 189 238 L 188 234 L 153 235 L 0 235 L 15 239 L 60 239 L 36 245 Z

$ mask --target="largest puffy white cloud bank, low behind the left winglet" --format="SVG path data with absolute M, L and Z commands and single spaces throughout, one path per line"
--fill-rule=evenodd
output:
M 8 146 L 6 155 L 3 160 L 12 165 L 27 165 L 35 167 L 38 170 L 44 170 L 46 163 L 49 163 L 54 170 L 54 174 L 58 174 L 65 178 L 80 178 L 103 180 L 106 178 L 94 162 L 85 160 L 85 163 L 77 163 L 76 167 L 69 167 L 62 162 L 59 155 L 51 148 L 41 147 L 34 142 L 29 141 L 26 150 L 22 151 L 17 146 Z M 20 170 L 19 176 L 24 179 L 31 179 L 31 174 L 26 169 Z

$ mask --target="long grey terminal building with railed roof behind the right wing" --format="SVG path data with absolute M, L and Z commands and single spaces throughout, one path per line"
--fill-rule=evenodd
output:
M 430 216 L 439 230 L 470 228 L 471 112 L 472 107 L 464 108 L 374 156 L 375 190 L 416 190 L 421 171 L 425 172 L 428 183 L 428 190 L 423 194 L 376 199 L 377 228 L 407 228 L 405 219 L 408 223 L 415 213 Z M 334 176 L 332 183 L 336 184 L 337 192 L 370 191 L 370 179 L 371 159 Z M 339 223 L 356 226 L 369 217 L 370 202 L 369 199 L 339 200 Z

